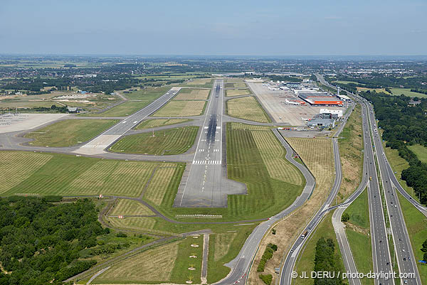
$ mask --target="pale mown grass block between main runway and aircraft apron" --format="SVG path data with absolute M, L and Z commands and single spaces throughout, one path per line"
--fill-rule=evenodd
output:
M 231 117 L 268 123 L 270 119 L 255 97 L 242 97 L 227 101 L 227 114 Z

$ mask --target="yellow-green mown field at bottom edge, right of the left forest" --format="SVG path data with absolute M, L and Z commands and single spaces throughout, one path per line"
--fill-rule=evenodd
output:
M 169 281 L 179 251 L 179 242 L 148 249 L 115 264 L 92 284 L 162 283 Z

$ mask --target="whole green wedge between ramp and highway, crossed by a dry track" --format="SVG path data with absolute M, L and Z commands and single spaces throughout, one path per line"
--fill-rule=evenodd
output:
M 368 273 L 373 270 L 372 248 L 369 226 L 368 193 L 365 189 L 359 197 L 349 205 L 344 213 L 349 214 L 350 220 L 345 222 L 345 232 L 352 249 L 354 262 L 359 272 Z M 373 285 L 373 279 L 362 279 L 363 284 Z

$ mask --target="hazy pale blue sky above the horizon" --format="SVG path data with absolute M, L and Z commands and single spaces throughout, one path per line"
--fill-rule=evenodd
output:
M 426 55 L 427 0 L 0 0 L 0 53 Z

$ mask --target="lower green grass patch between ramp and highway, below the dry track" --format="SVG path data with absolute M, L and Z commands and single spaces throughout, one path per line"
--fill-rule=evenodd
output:
M 357 271 L 367 274 L 374 270 L 372 264 L 371 238 L 368 235 L 364 235 L 361 232 L 355 232 L 349 228 L 345 230 L 345 233 L 352 249 Z M 374 284 L 374 279 L 363 278 L 362 284 L 372 285 Z

